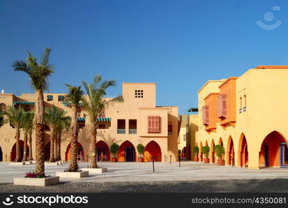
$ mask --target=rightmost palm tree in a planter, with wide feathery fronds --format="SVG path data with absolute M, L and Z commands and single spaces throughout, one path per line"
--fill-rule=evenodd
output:
M 89 101 L 85 102 L 85 109 L 90 119 L 90 168 L 97 168 L 96 164 L 96 134 L 99 115 L 105 107 L 117 102 L 123 102 L 122 96 L 112 99 L 104 99 L 106 89 L 116 85 L 115 80 L 105 80 L 101 82 L 101 76 L 96 75 L 93 83 L 87 84 L 84 81 L 83 86 L 88 94 Z

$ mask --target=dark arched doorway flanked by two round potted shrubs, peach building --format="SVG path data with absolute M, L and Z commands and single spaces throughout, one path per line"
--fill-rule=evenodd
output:
M 124 141 L 119 147 L 119 162 L 134 162 L 136 157 L 135 148 L 130 141 Z

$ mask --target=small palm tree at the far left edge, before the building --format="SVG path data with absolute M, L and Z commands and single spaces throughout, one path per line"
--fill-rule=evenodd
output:
M 4 119 L 4 123 L 10 122 L 10 124 L 15 128 L 15 139 L 16 139 L 16 158 L 15 162 L 20 162 L 21 155 L 20 155 L 20 128 L 22 128 L 22 122 L 24 117 L 24 110 L 22 107 L 15 108 L 12 106 L 8 106 L 7 109 L 1 113 L 7 116 Z

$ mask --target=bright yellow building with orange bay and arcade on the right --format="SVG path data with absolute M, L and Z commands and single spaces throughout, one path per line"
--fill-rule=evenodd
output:
M 260 66 L 242 76 L 208 80 L 198 90 L 198 125 L 194 145 L 225 149 L 226 165 L 288 167 L 288 66 Z M 193 135 L 193 134 L 192 134 Z M 193 150 L 193 149 L 192 149 Z

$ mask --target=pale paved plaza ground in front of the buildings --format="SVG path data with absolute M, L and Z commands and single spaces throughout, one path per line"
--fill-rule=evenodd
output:
M 80 168 L 88 166 L 81 162 Z M 63 171 L 69 163 L 46 166 L 46 175 Z M 90 175 L 81 179 L 60 178 L 60 184 L 51 187 L 23 187 L 12 185 L 13 177 L 23 177 L 33 171 L 35 164 L 8 166 L 0 163 L 1 192 L 287 192 L 287 168 L 251 170 L 230 166 L 216 166 L 199 162 L 152 163 L 101 162 L 108 173 Z

